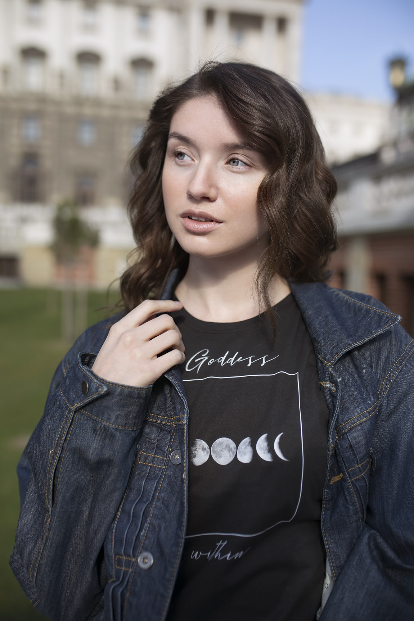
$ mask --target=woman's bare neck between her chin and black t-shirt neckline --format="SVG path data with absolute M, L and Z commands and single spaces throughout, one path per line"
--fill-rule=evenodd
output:
M 187 312 L 217 323 L 243 321 L 263 312 L 254 287 L 258 259 L 249 260 L 247 255 L 190 256 L 187 273 L 176 288 Z M 286 279 L 276 275 L 269 290 L 272 306 L 289 293 Z

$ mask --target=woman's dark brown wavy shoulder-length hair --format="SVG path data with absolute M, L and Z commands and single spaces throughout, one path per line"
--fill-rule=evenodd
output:
M 269 229 L 269 245 L 256 276 L 260 306 L 270 314 L 269 286 L 276 273 L 302 282 L 328 276 L 326 263 L 336 249 L 331 203 L 337 187 L 304 99 L 286 79 L 267 69 L 209 62 L 157 97 L 131 158 L 135 184 L 128 214 L 137 260 L 120 281 L 127 311 L 147 297 L 159 297 L 173 268 L 179 268 L 181 278 L 186 273 L 189 255 L 168 227 L 161 176 L 174 112 L 189 99 L 211 95 L 269 164 L 257 196 Z

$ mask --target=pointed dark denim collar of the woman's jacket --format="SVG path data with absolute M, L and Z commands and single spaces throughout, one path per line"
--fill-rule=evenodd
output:
M 178 269 L 169 274 L 161 299 L 169 299 L 178 279 Z M 289 280 L 292 295 L 312 338 L 315 353 L 328 366 L 341 356 L 371 340 L 401 320 L 400 315 L 369 306 L 365 296 L 333 289 L 325 283 L 294 283 Z M 323 295 L 321 293 L 323 292 Z

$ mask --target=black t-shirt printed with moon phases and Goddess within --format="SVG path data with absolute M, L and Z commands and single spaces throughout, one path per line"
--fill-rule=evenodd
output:
M 276 308 L 276 307 L 275 307 Z M 290 294 L 218 324 L 174 312 L 189 404 L 186 541 L 169 621 L 313 621 L 328 409 Z

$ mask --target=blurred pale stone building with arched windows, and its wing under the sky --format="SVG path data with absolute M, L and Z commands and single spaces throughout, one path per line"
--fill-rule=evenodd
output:
M 84 279 L 106 287 L 133 248 L 128 156 L 153 97 L 207 58 L 299 82 L 303 0 L 0 0 L 0 278 L 55 282 L 56 204 L 99 230 Z M 387 106 L 305 94 L 332 162 L 382 140 Z M 87 265 L 86 265 L 87 264 Z

